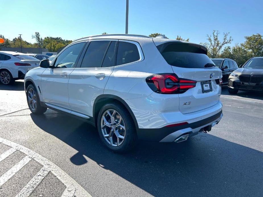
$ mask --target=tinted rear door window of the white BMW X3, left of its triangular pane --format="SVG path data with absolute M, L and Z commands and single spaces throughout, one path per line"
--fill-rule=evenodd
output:
M 110 41 L 91 41 L 83 57 L 81 68 L 100 68 Z

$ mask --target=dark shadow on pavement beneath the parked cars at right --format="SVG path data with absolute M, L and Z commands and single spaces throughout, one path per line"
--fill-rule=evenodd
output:
M 235 95 L 237 97 L 243 97 L 243 98 L 252 98 L 252 99 L 259 99 L 263 100 L 263 91 L 238 91 L 237 94 L 230 94 L 227 90 L 227 86 L 223 85 L 221 91 L 221 95 Z

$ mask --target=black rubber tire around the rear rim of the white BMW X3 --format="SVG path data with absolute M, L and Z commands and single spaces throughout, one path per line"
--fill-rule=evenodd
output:
M 107 142 L 107 140 L 109 140 L 109 138 L 106 139 L 103 136 L 103 133 L 102 133 L 103 131 L 102 131 L 102 127 L 101 127 L 102 122 L 101 121 L 102 121 L 103 114 L 105 112 L 107 112 L 107 110 L 115 110 L 121 116 L 121 118 L 123 120 L 122 123 L 124 123 L 124 125 L 125 125 L 125 137 L 123 139 L 123 142 L 119 146 L 113 146 L 113 145 L 109 144 L 109 142 Z M 117 115 L 116 115 L 116 118 L 117 118 Z M 132 120 L 132 117 L 129 114 L 128 110 L 124 106 L 122 106 L 118 103 L 106 104 L 101 108 L 99 115 L 98 115 L 97 128 L 98 128 L 98 132 L 100 135 L 100 139 L 102 140 L 103 144 L 107 148 L 109 148 L 110 150 L 112 150 L 114 152 L 122 152 L 122 153 L 128 152 L 128 151 L 132 150 L 134 148 L 135 144 L 137 143 L 137 133 L 136 133 L 134 121 Z M 110 128 L 108 128 L 108 129 L 110 129 Z M 117 131 L 118 131 L 118 129 L 117 129 Z M 116 135 L 116 134 L 114 133 L 113 135 Z

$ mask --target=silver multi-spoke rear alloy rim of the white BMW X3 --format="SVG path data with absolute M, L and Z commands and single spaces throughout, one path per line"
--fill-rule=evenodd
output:
M 106 110 L 101 118 L 102 135 L 111 146 L 120 146 L 125 139 L 125 124 L 116 110 Z

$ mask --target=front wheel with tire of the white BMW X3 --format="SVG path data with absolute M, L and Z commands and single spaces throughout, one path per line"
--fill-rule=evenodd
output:
M 30 84 L 26 89 L 26 99 L 28 107 L 33 114 L 43 114 L 47 111 L 46 107 L 42 107 L 40 105 L 38 92 L 32 84 Z

